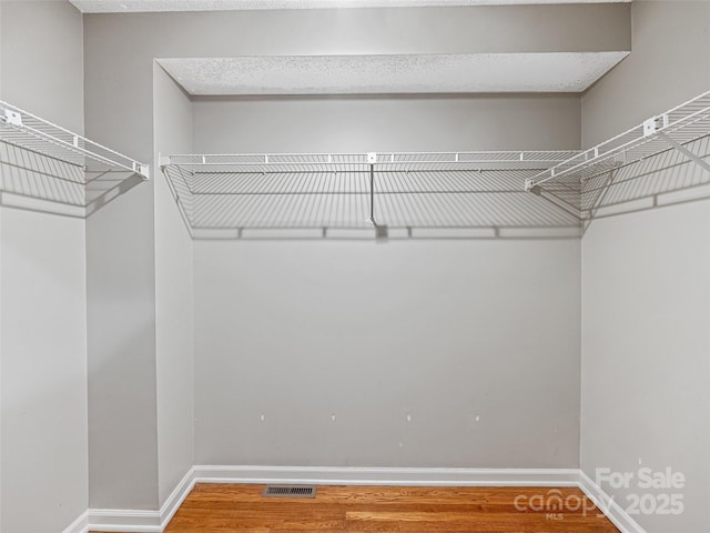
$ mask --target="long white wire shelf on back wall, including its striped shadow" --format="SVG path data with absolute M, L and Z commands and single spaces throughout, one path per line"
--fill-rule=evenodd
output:
M 264 230 L 500 238 L 521 229 L 579 231 L 569 209 L 521 187 L 575 153 L 178 154 L 161 157 L 160 165 L 197 239 Z

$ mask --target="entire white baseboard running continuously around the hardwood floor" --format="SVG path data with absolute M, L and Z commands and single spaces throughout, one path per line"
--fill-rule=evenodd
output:
M 621 533 L 646 533 L 579 469 L 389 469 L 337 466 L 197 465 L 160 511 L 90 509 L 63 533 L 162 533 L 195 483 L 294 483 L 392 486 L 577 486 Z

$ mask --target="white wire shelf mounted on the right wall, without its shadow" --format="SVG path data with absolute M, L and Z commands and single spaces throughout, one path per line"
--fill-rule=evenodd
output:
M 526 181 L 526 189 L 531 191 L 542 187 L 557 192 L 579 190 L 585 187 L 586 181 L 672 150 L 680 151 L 688 161 L 694 161 L 710 170 L 704 157 L 688 148 L 708 135 L 710 91 L 540 171 Z

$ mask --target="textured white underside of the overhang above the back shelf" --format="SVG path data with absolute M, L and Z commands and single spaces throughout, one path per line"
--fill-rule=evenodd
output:
M 173 58 L 191 95 L 582 92 L 629 52 Z

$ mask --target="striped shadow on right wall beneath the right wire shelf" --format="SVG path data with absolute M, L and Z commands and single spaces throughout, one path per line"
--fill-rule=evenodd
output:
M 683 148 L 699 162 L 669 148 L 630 164 L 609 165 L 578 185 L 564 181 L 544 185 L 544 194 L 561 197 L 578 187 L 578 197 L 567 193 L 564 198 L 578 198 L 575 209 L 580 212 L 582 233 L 597 219 L 710 199 L 710 133 Z

